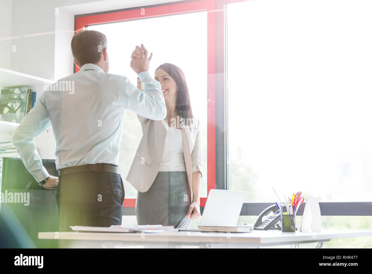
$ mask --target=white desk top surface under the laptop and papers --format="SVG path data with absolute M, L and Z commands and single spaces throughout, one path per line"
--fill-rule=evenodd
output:
M 39 239 L 55 239 L 55 232 L 39 232 Z M 245 243 L 285 244 L 291 242 L 322 242 L 346 237 L 372 236 L 372 230 L 323 230 L 322 232 L 281 232 L 252 230 L 250 233 L 163 232 L 163 233 L 86 233 L 59 232 L 60 240 L 184 242 L 184 243 Z

